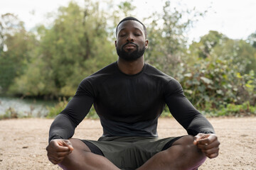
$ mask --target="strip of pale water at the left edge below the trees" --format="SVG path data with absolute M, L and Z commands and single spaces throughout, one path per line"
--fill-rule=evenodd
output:
M 54 106 L 55 103 L 57 102 L 0 96 L 0 115 L 4 115 L 11 108 L 18 113 L 18 117 L 31 115 L 41 118 L 48 114 L 47 106 Z

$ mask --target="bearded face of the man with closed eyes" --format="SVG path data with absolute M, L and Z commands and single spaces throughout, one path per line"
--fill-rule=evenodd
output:
M 120 23 L 114 43 L 117 55 L 126 61 L 139 59 L 148 47 L 142 24 L 133 20 Z

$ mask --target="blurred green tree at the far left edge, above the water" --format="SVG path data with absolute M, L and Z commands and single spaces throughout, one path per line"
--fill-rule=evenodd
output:
M 0 30 L 0 93 L 4 93 L 23 74 L 37 41 L 11 13 L 1 16 Z

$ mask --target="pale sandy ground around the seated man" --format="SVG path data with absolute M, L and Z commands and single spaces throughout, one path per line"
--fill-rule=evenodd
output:
M 256 169 L 256 117 L 209 118 L 221 142 L 220 155 L 200 169 Z M 52 119 L 0 120 L 0 169 L 60 169 L 48 162 L 46 146 Z M 159 137 L 186 134 L 173 118 L 159 120 Z M 102 135 L 99 120 L 83 120 L 75 131 L 81 139 Z

